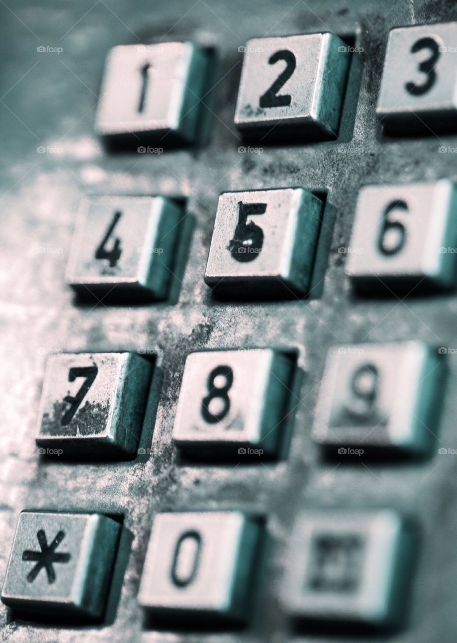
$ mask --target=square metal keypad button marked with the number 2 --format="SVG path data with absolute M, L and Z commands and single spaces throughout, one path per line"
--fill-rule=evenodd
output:
M 235 124 L 251 138 L 334 138 L 349 68 L 332 33 L 246 43 Z

